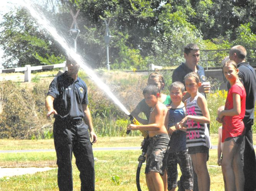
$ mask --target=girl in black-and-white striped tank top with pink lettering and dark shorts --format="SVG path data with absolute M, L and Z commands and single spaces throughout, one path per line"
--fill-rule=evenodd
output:
M 193 168 L 198 176 L 198 189 L 210 191 L 210 176 L 207 169 L 210 137 L 206 123 L 210 123 L 210 114 L 205 97 L 198 92 L 201 86 L 197 73 L 191 72 L 185 76 L 185 87 L 191 95 L 185 101 L 186 117 L 178 124 L 177 128 L 187 128 L 187 147 Z

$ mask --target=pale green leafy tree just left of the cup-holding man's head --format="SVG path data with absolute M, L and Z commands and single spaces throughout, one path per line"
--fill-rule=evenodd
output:
M 186 44 L 199 42 L 201 40 L 200 31 L 188 22 L 187 13 L 193 14 L 190 7 L 177 6 L 173 11 L 173 6 L 167 3 L 163 6 L 156 24 L 159 35 L 153 41 L 152 48 L 156 63 L 161 65 L 178 65 L 183 61 L 183 49 Z

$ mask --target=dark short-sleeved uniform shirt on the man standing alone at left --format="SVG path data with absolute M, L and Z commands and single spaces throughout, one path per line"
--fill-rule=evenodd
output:
M 47 95 L 54 97 L 55 118 L 83 118 L 82 104 L 88 104 L 87 86 L 81 78 L 74 80 L 67 72 L 54 78 Z

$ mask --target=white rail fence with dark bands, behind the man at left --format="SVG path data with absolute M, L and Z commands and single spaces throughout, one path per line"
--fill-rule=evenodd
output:
M 64 61 L 63 63 L 53 64 L 53 65 L 44 65 L 44 66 L 25 65 L 25 67 L 20 67 L 20 68 L 0 69 L 0 73 L 11 73 L 11 72 L 24 71 L 24 81 L 31 82 L 31 71 L 32 70 L 43 70 L 43 69 L 51 69 L 51 68 L 62 68 L 63 71 L 68 70 L 66 67 L 66 61 Z

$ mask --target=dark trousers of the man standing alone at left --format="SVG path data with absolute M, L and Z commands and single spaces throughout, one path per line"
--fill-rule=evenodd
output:
M 73 190 L 72 153 L 80 172 L 81 191 L 95 190 L 94 157 L 88 125 L 82 119 L 55 119 L 53 135 L 57 155 L 59 190 Z

